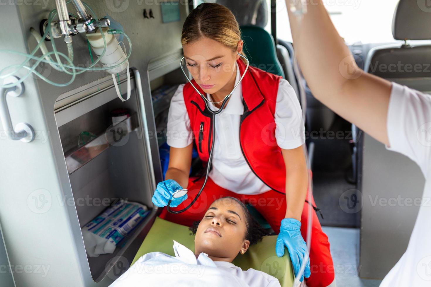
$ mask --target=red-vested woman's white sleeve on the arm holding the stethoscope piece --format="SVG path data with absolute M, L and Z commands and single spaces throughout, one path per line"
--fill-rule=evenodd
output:
M 184 103 L 184 84 L 178 86 L 169 107 L 167 144 L 173 148 L 185 148 L 193 142 L 190 118 Z

